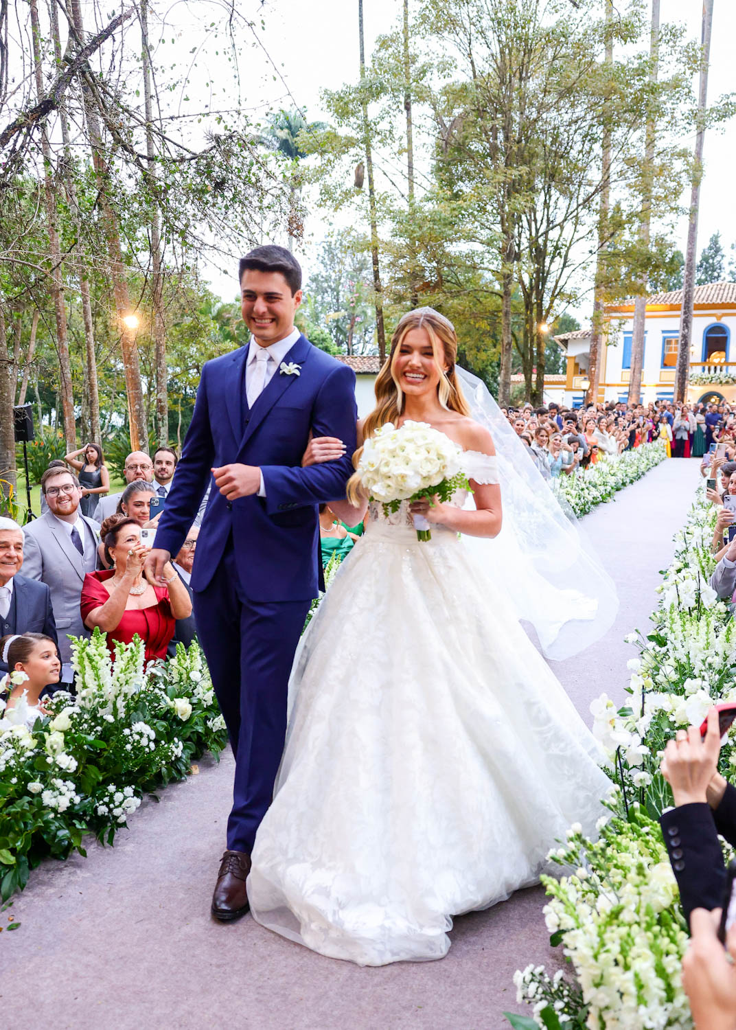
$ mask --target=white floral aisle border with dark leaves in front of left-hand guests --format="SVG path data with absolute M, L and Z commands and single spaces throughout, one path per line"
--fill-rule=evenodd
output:
M 82 838 L 112 844 L 143 794 L 184 780 L 192 758 L 215 756 L 227 734 L 197 644 L 144 667 L 136 637 L 72 644 L 77 695 L 57 692 L 27 728 L 24 706 L 0 719 L 0 894 L 23 890 L 42 858 L 85 855 Z M 4 709 L 4 702 L 0 701 Z M 0 713 L 2 714 L 2 713 Z

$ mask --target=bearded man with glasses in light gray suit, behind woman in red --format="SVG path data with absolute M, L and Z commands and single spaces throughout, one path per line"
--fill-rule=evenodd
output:
M 90 636 L 81 620 L 79 596 L 84 576 L 98 568 L 100 526 L 79 511 L 79 480 L 67 469 L 46 469 L 41 476 L 41 493 L 48 511 L 26 526 L 23 572 L 45 583 L 50 591 L 64 665 L 62 681 L 70 683 L 67 633 Z

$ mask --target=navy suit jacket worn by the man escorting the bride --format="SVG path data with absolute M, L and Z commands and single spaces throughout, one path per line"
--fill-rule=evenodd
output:
M 355 373 L 301 336 L 286 364 L 248 408 L 247 347 L 202 369 L 181 459 L 155 535 L 155 546 L 177 554 L 212 480 L 211 468 L 258 466 L 266 496 L 227 502 L 212 483 L 197 542 L 191 588 L 205 590 L 233 539 L 241 586 L 250 600 L 308 600 L 317 595 L 318 505 L 345 496 L 356 446 Z M 315 436 L 339 437 L 345 457 L 302 468 Z

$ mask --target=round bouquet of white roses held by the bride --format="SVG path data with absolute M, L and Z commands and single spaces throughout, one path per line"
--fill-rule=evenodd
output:
M 426 422 L 406 421 L 396 428 L 386 422 L 363 444 L 357 472 L 372 501 L 383 504 L 386 515 L 402 501 L 436 495 L 441 503 L 470 484 L 462 472 L 462 450 Z M 414 516 L 419 540 L 431 540 L 429 522 Z

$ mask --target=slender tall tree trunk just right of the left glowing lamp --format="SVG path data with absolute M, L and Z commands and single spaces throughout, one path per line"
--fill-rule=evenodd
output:
M 148 0 L 141 0 L 141 43 L 143 49 L 143 95 L 146 114 L 146 158 L 148 159 L 148 193 L 151 208 L 151 259 L 153 281 L 151 302 L 153 313 L 153 347 L 155 351 L 155 420 L 159 446 L 169 445 L 168 370 L 166 367 L 166 325 L 164 324 L 164 267 L 161 253 L 161 215 L 156 200 L 155 147 L 153 145 L 153 104 L 151 101 L 151 63 L 148 48 Z M 290 249 L 290 248 L 289 248 Z

